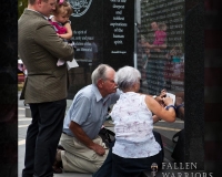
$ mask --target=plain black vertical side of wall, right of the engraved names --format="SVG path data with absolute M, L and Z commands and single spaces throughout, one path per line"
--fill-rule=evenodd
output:
M 204 169 L 204 9 L 185 1 L 185 160 Z

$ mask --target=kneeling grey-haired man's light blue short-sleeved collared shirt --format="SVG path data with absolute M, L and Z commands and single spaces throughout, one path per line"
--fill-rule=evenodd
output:
M 74 136 L 69 129 L 71 121 L 79 124 L 84 133 L 91 138 L 95 138 L 105 121 L 108 107 L 117 102 L 120 91 L 102 97 L 98 87 L 93 84 L 81 88 L 73 98 L 67 112 L 63 123 L 63 132 Z

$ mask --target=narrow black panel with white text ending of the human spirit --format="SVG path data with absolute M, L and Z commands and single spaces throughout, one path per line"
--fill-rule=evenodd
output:
M 134 1 L 104 1 L 103 59 L 115 70 L 133 65 Z

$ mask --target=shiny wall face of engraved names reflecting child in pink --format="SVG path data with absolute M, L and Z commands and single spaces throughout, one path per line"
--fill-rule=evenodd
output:
M 184 91 L 184 0 L 142 0 L 137 10 L 138 69 L 142 91 Z

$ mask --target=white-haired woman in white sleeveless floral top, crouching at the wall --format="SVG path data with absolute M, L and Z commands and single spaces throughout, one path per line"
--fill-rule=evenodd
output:
M 110 150 L 111 159 L 105 160 L 93 177 L 102 176 L 100 171 L 104 168 L 110 170 L 105 174 L 111 177 L 138 177 L 149 170 L 152 163 L 162 165 L 161 145 L 153 135 L 152 114 L 174 122 L 175 107 L 170 97 L 162 98 L 164 108 L 152 96 L 138 93 L 140 79 L 141 73 L 131 66 L 123 66 L 115 73 L 115 83 L 123 92 L 111 112 L 115 143 Z

